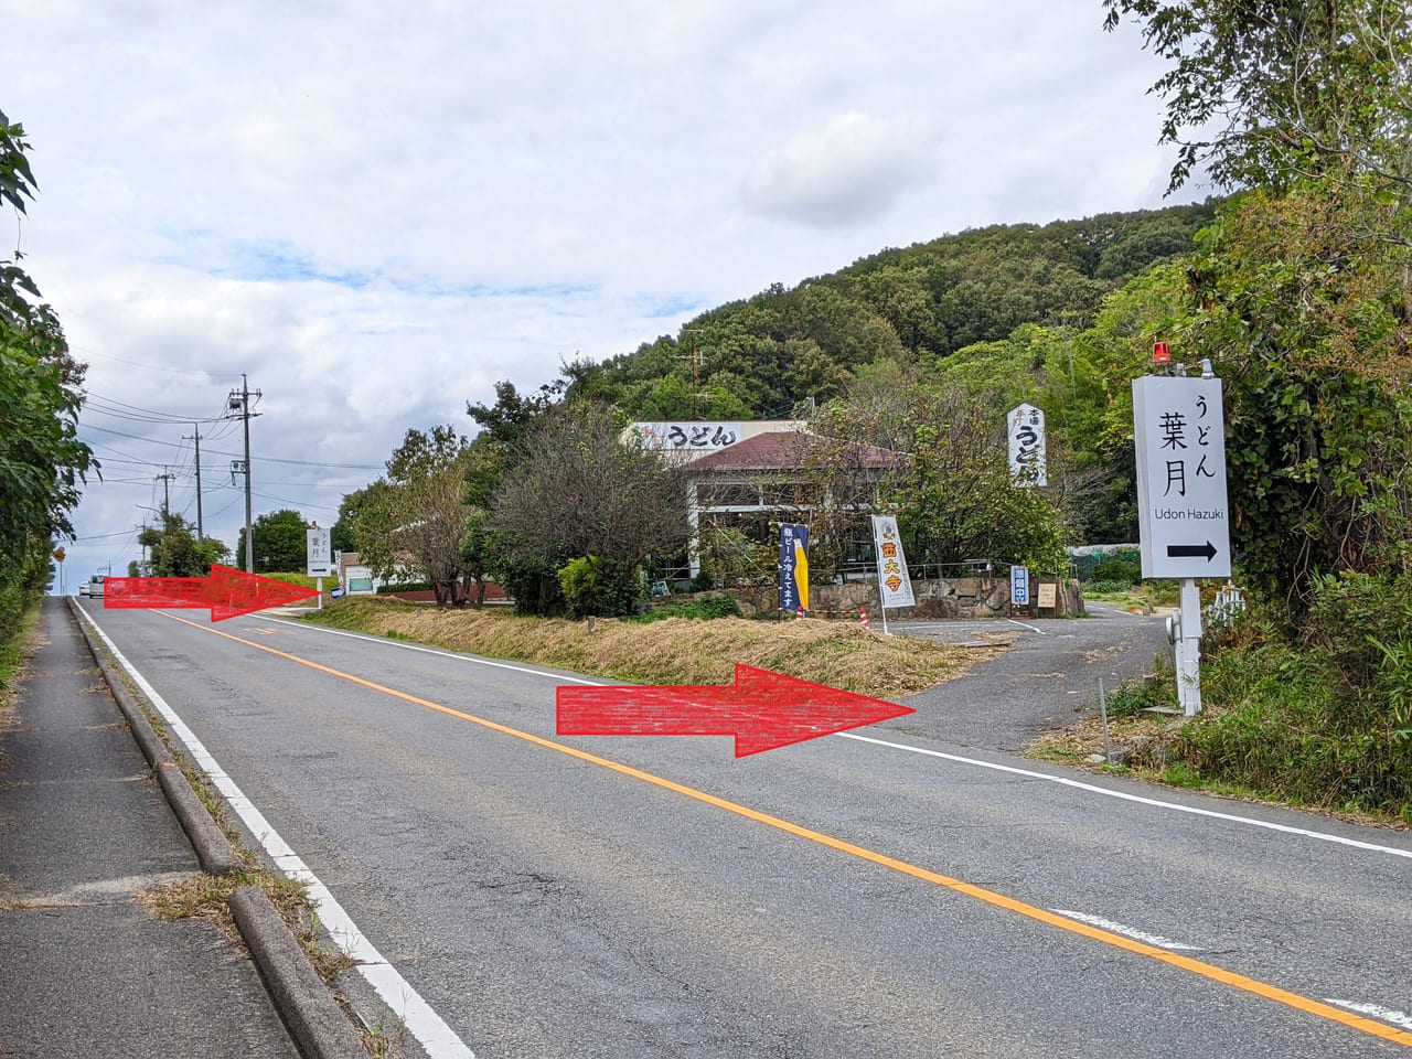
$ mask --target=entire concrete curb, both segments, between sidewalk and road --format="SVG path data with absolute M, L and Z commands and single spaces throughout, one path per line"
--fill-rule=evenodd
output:
M 186 832 L 192 849 L 196 850 L 201 867 L 213 875 L 233 875 L 243 870 L 244 861 L 236 854 L 230 839 L 206 812 L 206 806 L 167 753 L 167 744 L 152 729 L 143 707 L 127 690 L 127 685 L 109 662 L 107 654 L 95 640 L 82 607 L 72 596 L 68 597 L 68 604 L 89 652 L 127 719 L 133 738 L 157 774 L 172 812 Z M 367 1049 L 363 1048 L 353 1024 L 335 1003 L 329 986 L 313 970 L 289 925 L 284 922 L 268 895 L 260 887 L 237 887 L 230 898 L 230 911 L 265 983 L 265 991 L 301 1055 L 305 1059 L 367 1059 Z

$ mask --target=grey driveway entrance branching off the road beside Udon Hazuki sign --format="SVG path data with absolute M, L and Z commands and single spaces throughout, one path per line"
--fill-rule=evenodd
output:
M 902 699 L 915 714 L 885 727 L 956 747 L 1021 751 L 1042 733 L 1097 712 L 1099 679 L 1111 689 L 1151 674 L 1171 647 L 1163 614 L 1089 603 L 1083 618 L 891 621 L 897 635 L 956 644 L 1010 642 L 966 676 Z

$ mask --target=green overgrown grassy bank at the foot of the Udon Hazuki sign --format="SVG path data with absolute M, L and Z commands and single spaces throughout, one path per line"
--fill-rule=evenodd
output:
M 1171 665 L 1110 695 L 1125 770 L 1210 794 L 1412 825 L 1408 641 L 1381 654 L 1368 644 L 1357 659 L 1254 618 L 1213 635 L 1207 648 L 1196 717 L 1144 712 L 1178 709 Z M 1101 726 L 1086 720 L 1031 753 L 1065 761 L 1103 753 Z

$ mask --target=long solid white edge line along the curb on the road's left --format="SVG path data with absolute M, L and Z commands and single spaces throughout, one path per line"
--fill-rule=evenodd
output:
M 80 609 L 82 611 L 82 609 Z M 383 955 L 377 947 L 367 939 L 367 936 L 357 928 L 352 916 L 343 911 L 343 907 L 333 898 L 328 887 L 325 887 L 318 875 L 315 875 L 309 867 L 295 854 L 295 851 L 285 843 L 280 833 L 270 826 L 270 822 L 264 815 L 254 806 L 254 803 L 246 798 L 246 795 L 236 786 L 236 782 L 226 775 L 225 770 L 220 768 L 216 758 L 210 755 L 196 734 L 186 727 L 186 723 L 176 716 L 176 712 L 167 705 L 167 700 L 157 693 L 147 679 L 137 672 L 131 662 L 123 657 L 123 652 L 117 650 L 107 634 L 99 628 L 97 623 L 93 621 L 86 613 L 83 618 L 93 627 L 93 630 L 103 638 L 107 644 L 109 651 L 117 659 L 123 671 L 133 678 L 133 682 L 143 690 L 143 693 L 151 700 L 157 712 L 162 714 L 167 723 L 171 726 L 172 731 L 186 744 L 186 750 L 191 753 L 192 758 L 202 767 L 210 782 L 215 784 L 216 789 L 226 798 L 230 808 L 240 816 L 250 833 L 256 836 L 261 846 L 264 846 L 265 853 L 274 858 L 275 864 L 291 878 L 297 878 L 305 882 L 309 888 L 309 898 L 315 902 L 319 922 L 328 929 L 329 935 L 333 938 L 335 945 L 352 960 L 357 962 L 357 971 L 361 974 L 370 986 L 377 991 L 383 1003 L 387 1004 L 394 1012 L 397 1012 L 408 1032 L 417 1038 L 418 1043 L 426 1049 L 426 1055 L 431 1059 L 476 1059 L 476 1053 L 466 1046 L 456 1032 L 446 1025 L 441 1015 L 438 1015 L 432 1007 L 422 1000 L 421 994 L 412 988 L 411 983 L 404 979 L 398 970 L 383 959 Z

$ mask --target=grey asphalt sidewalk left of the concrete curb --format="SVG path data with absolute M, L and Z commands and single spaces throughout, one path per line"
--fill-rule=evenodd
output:
M 0 1056 L 297 1059 L 254 963 L 140 895 L 196 874 L 64 600 L 0 713 Z

